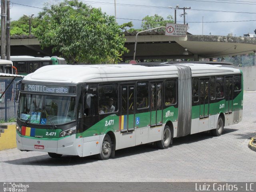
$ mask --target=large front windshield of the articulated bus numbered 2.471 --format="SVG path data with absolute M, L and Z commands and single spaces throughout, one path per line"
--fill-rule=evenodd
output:
M 18 117 L 33 124 L 68 123 L 76 120 L 75 97 L 21 93 Z

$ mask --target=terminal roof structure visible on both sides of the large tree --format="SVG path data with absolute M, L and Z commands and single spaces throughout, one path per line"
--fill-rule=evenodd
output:
M 125 46 L 130 51 L 122 57 L 132 60 L 136 32 L 124 32 Z M 38 39 L 33 35 L 14 35 L 10 40 L 11 55 L 58 56 L 51 48 L 40 48 Z M 185 48 L 188 55 L 184 55 Z M 161 32 L 143 32 L 138 35 L 136 59 L 177 59 L 177 58 L 216 58 L 253 53 L 256 38 L 230 36 L 201 36 L 187 34 L 186 37 L 173 37 Z

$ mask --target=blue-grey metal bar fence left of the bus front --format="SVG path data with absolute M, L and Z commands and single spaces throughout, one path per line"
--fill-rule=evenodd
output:
M 0 122 L 16 121 L 18 103 L 15 102 L 16 84 L 22 78 L 16 78 L 0 99 Z M 11 79 L 0 79 L 0 95 L 12 82 Z

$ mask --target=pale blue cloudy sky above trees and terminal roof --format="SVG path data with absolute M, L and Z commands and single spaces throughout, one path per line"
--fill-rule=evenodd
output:
M 23 14 L 37 16 L 45 2 L 56 4 L 62 0 L 10 0 L 10 18 L 18 20 Z M 123 24 L 132 21 L 133 28 L 141 28 L 145 16 L 158 14 L 164 19 L 174 18 L 174 7 L 186 10 L 188 32 L 194 35 L 243 36 L 256 30 L 256 0 L 82 0 L 92 7 L 101 8 L 108 15 L 115 15 Z M 173 8 L 168 8 L 172 6 Z M 184 23 L 183 9 L 178 9 L 178 24 Z

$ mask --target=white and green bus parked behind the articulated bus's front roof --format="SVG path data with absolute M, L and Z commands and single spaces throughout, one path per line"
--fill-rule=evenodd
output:
M 60 65 L 66 64 L 64 58 L 57 56 L 52 57 L 33 57 L 33 56 L 10 56 L 14 67 L 17 68 L 18 74 L 27 75 L 34 72 L 40 67 L 46 65 Z

